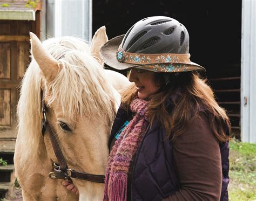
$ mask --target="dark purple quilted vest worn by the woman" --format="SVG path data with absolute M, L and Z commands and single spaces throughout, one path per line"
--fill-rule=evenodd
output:
M 118 109 L 109 145 L 114 134 L 128 116 L 124 109 Z M 173 166 L 172 142 L 165 139 L 165 129 L 162 129 L 159 123 L 155 122 L 152 128 L 147 130 L 134 160 L 131 176 L 131 200 L 163 200 L 180 189 L 178 175 Z M 220 145 L 220 153 L 223 169 L 220 200 L 227 201 L 228 142 Z

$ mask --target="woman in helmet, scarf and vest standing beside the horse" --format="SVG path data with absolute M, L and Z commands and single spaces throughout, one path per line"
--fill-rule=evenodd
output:
M 134 82 L 113 123 L 104 200 L 228 200 L 230 122 L 188 48 L 185 26 L 161 16 L 102 47 Z

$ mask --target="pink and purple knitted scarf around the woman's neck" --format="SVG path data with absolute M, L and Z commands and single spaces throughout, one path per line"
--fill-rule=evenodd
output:
M 127 199 L 127 173 L 132 156 L 136 153 L 149 125 L 145 115 L 148 105 L 149 101 L 139 98 L 131 103 L 131 110 L 136 114 L 122 131 L 110 152 L 105 174 L 104 201 Z

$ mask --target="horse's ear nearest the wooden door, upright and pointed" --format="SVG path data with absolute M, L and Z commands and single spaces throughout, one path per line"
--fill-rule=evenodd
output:
M 58 61 L 48 53 L 41 41 L 32 32 L 30 34 L 31 55 L 41 68 L 45 79 L 50 82 L 56 78 L 59 71 Z

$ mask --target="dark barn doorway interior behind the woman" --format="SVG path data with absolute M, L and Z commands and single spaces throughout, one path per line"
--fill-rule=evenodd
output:
M 206 68 L 216 99 L 226 108 L 232 131 L 240 135 L 241 0 L 93 1 L 93 33 L 105 25 L 109 39 L 138 20 L 169 16 L 190 33 L 191 60 Z

